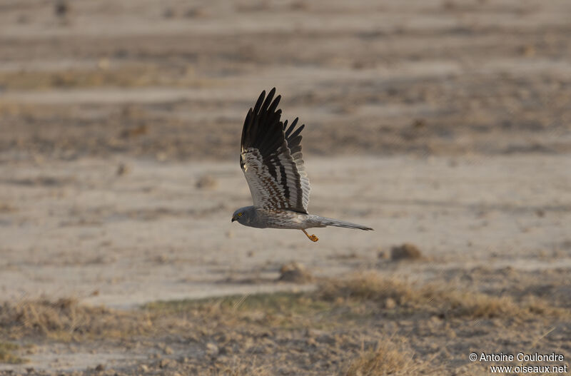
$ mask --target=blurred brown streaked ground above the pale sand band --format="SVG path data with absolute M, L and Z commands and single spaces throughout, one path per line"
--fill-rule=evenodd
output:
M 565 0 L 0 5 L 0 146 L 22 157 L 236 159 L 273 86 L 313 155 L 569 151 Z

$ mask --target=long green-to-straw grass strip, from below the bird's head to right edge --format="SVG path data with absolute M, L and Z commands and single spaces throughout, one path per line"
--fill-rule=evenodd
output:
M 360 273 L 345 279 L 323 280 L 308 293 L 231 295 L 200 300 L 148 303 L 143 310 L 153 317 L 193 317 L 196 320 L 237 321 L 295 329 L 362 325 L 363 320 L 384 317 L 530 318 L 537 315 L 568 317 L 545 300 L 516 302 L 510 296 L 493 296 L 450 290 L 445 285 L 415 285 L 378 273 Z

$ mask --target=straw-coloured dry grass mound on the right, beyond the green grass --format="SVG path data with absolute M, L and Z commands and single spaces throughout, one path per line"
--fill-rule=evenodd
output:
M 445 285 L 417 286 L 378 273 L 360 273 L 345 280 L 327 280 L 318 289 L 325 300 L 373 300 L 385 308 L 420 310 L 443 317 L 533 317 L 547 315 L 567 317 L 545 300 L 535 298 L 516 303 L 510 296 L 493 296 L 470 291 L 450 290 Z

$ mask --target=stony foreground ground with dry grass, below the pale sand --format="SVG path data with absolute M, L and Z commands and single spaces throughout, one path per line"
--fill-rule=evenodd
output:
M 565 273 L 540 275 L 559 284 Z M 525 273 L 502 274 L 504 283 L 530 281 Z M 465 355 L 497 351 L 499 343 L 502 352 L 569 350 L 565 296 L 547 300 L 537 285 L 521 283 L 525 293 L 479 293 L 465 285 L 496 278 L 497 271 L 461 275 L 471 283 L 451 289 L 369 272 L 320 280 L 313 293 L 170 300 L 128 312 L 73 300 L 6 303 L 1 335 L 22 348 L 7 348 L 4 360 L 46 359 L 57 346 L 51 367 L 70 367 L 71 353 L 91 363 L 80 369 L 86 374 L 482 375 L 484 367 Z M 90 352 L 98 356 L 89 359 Z

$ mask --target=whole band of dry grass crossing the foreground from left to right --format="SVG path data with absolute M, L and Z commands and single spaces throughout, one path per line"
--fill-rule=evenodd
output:
M 386 317 L 522 318 L 569 317 L 562 308 L 534 298 L 516 302 L 510 296 L 493 296 L 450 290 L 444 285 L 417 286 L 377 273 L 362 273 L 326 280 L 313 293 L 236 295 L 205 300 L 156 302 L 143 310 L 122 312 L 79 305 L 74 299 L 27 300 L 0 305 L 0 335 L 6 338 L 46 337 L 69 341 L 78 338 L 124 338 L 147 335 L 169 327 L 200 325 L 221 320 L 228 325 L 250 323 L 294 329 L 320 327 L 323 317 L 335 322 L 360 322 L 378 313 Z M 373 316 L 371 316 L 373 315 Z

